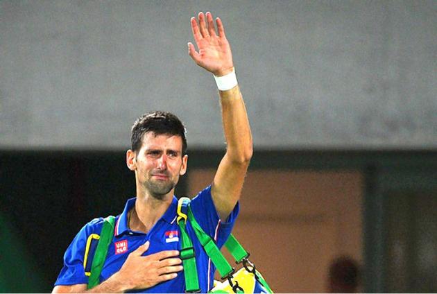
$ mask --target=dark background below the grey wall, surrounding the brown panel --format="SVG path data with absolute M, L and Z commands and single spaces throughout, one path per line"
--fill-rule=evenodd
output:
M 189 169 L 215 168 L 221 155 L 191 150 Z M 62 255 L 80 227 L 94 217 L 121 213 L 126 199 L 135 196 L 135 177 L 123 152 L 10 151 L 0 153 L 0 162 L 4 292 L 51 291 Z M 436 152 L 255 150 L 250 168 L 361 171 L 364 291 L 436 291 L 435 257 L 421 250 L 423 244 L 437 245 L 436 210 L 424 210 L 436 204 Z M 187 177 L 176 195 L 185 195 Z M 400 238 L 410 244 L 404 274 L 393 268 L 391 243 Z M 423 259 L 434 265 L 423 268 Z

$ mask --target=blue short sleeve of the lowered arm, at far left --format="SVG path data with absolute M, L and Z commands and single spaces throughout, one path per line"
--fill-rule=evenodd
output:
M 55 286 L 88 284 L 88 277 L 83 268 L 87 239 L 93 233 L 100 234 L 102 225 L 103 218 L 95 218 L 76 234 L 65 251 L 64 266 L 56 279 Z

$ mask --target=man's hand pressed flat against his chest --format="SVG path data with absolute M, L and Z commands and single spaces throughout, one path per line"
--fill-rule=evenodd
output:
M 148 250 L 149 242 L 131 252 L 125 263 L 115 275 L 129 289 L 144 289 L 160 282 L 174 279 L 176 272 L 182 270 L 182 260 L 178 250 L 166 250 L 142 256 Z

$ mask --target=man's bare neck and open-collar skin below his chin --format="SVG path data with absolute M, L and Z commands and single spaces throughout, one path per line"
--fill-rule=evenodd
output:
M 173 193 L 174 189 L 160 200 L 147 192 L 139 193 L 137 191 L 135 207 L 130 210 L 130 230 L 144 233 L 150 231 L 171 205 Z

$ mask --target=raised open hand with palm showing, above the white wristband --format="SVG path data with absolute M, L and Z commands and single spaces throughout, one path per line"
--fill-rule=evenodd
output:
M 200 67 L 212 72 L 215 76 L 224 76 L 232 71 L 232 52 L 230 44 L 225 36 L 225 28 L 221 19 L 216 18 L 217 33 L 211 12 L 206 12 L 206 20 L 203 12 L 196 17 L 191 17 L 191 30 L 193 31 L 194 44 L 188 43 L 188 54 Z

